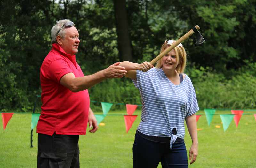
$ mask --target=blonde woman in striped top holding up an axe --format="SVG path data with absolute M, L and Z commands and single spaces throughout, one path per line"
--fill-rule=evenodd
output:
M 173 42 L 166 40 L 160 53 Z M 198 148 L 195 113 L 199 108 L 193 84 L 183 73 L 186 51 L 182 44 L 163 56 L 155 68 L 148 62 L 124 61 L 119 66 L 126 68 L 126 77 L 133 80 L 141 94 L 142 113 L 133 144 L 133 167 L 156 168 L 159 162 L 163 168 L 188 167 L 184 120 L 193 142 L 190 164 L 194 163 Z

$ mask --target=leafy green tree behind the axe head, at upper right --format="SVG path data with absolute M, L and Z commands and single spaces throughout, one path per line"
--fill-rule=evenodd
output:
M 175 3 L 179 17 L 191 27 L 198 24 L 206 40 L 202 46 L 187 45 L 193 62 L 225 72 L 255 59 L 255 5 L 253 0 Z

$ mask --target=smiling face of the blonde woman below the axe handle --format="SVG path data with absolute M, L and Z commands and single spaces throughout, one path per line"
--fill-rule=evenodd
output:
M 175 70 L 178 66 L 178 59 L 176 52 L 172 49 L 169 53 L 162 58 L 162 68 L 165 70 Z

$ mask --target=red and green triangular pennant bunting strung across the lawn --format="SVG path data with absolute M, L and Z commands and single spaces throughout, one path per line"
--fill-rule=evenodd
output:
M 40 97 L 41 97 L 41 95 L 36 95 L 36 98 L 40 98 Z M 128 133 L 128 131 L 132 127 L 132 124 L 134 123 L 134 121 L 136 120 L 136 118 L 138 116 L 138 115 L 133 115 L 134 111 L 136 110 L 136 108 L 138 106 L 142 106 L 141 104 L 109 103 L 109 102 L 99 102 L 99 101 L 90 101 L 90 102 L 101 104 L 103 114 L 94 114 L 96 117 L 96 120 L 98 122 L 98 125 L 104 120 L 104 118 L 106 116 L 124 116 L 126 133 Z M 111 109 L 111 107 L 113 106 L 113 104 L 126 105 L 126 113 L 127 114 L 108 114 L 108 112 Z M 36 108 L 36 101 L 34 103 L 34 109 L 33 109 L 33 113 L 31 116 L 31 147 L 33 147 L 32 146 L 32 132 L 33 132 L 33 129 L 36 127 L 37 122 L 39 120 L 39 116 L 40 116 L 40 113 L 35 113 L 35 108 Z M 202 109 L 200 109 L 200 110 L 202 110 Z M 235 121 L 236 127 L 238 127 L 239 121 L 243 115 L 254 115 L 254 118 L 256 121 L 256 113 L 244 113 L 245 111 L 246 112 L 256 112 L 256 109 L 224 109 L 224 108 L 220 109 L 220 108 L 217 108 L 217 109 L 203 109 L 203 110 L 204 110 L 204 114 L 196 113 L 196 122 L 199 121 L 199 118 L 202 115 L 205 115 L 208 126 L 210 126 L 213 117 L 216 115 L 219 115 L 220 119 L 222 121 L 222 124 L 223 124 L 224 132 L 228 129 L 232 120 Z M 216 111 L 231 111 L 231 114 L 230 113 L 229 114 L 215 114 Z M 24 112 L 13 112 L 13 113 L 2 112 L 1 116 L 2 116 L 4 130 L 6 129 L 6 126 L 7 126 L 8 122 L 11 120 L 12 115 L 14 113 L 26 114 Z M 200 130 L 202 130 L 202 129 L 200 129 Z

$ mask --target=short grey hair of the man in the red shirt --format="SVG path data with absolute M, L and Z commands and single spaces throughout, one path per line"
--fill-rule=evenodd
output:
M 52 44 L 53 43 L 57 43 L 56 37 L 57 37 L 57 33 L 59 33 L 61 38 L 65 37 L 65 31 L 60 29 L 62 28 L 63 25 L 65 25 L 67 22 L 71 22 L 68 19 L 64 19 L 64 20 L 59 20 L 56 22 L 56 24 L 52 27 L 51 30 L 51 37 L 52 37 Z M 60 31 L 60 32 L 59 32 Z

